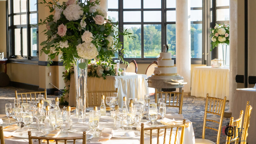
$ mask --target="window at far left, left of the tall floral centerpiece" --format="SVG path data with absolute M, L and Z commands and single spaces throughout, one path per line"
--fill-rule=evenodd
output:
M 9 58 L 38 60 L 37 0 L 8 0 Z

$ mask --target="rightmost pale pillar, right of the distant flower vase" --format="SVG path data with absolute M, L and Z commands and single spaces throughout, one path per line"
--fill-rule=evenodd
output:
M 229 1 L 229 112 L 232 112 L 237 88 L 237 0 Z

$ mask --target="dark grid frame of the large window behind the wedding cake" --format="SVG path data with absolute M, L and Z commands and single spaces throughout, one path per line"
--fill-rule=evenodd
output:
M 136 8 L 136 9 L 124 9 L 123 7 L 123 0 L 118 0 L 118 9 L 108 9 L 108 11 L 111 12 L 118 12 L 118 27 L 119 28 L 124 28 L 124 25 L 129 25 L 129 24 L 136 24 L 136 25 L 141 25 L 141 58 L 124 58 L 125 61 L 131 61 L 131 60 L 136 60 L 137 63 L 152 63 L 152 61 L 157 60 L 157 58 L 144 58 L 144 27 L 143 25 L 145 24 L 158 24 L 161 25 L 161 45 L 167 43 L 167 34 L 166 34 L 166 28 L 167 24 L 176 24 L 175 21 L 172 22 L 167 22 L 166 19 L 166 13 L 167 11 L 175 11 L 176 8 L 166 8 L 166 0 L 161 0 L 161 8 L 143 8 L 143 0 L 141 1 L 141 8 Z M 202 21 L 191 21 L 191 24 L 202 24 L 202 58 L 191 58 L 191 64 L 204 64 L 205 58 L 204 58 L 204 52 L 205 52 L 205 44 L 204 44 L 204 39 L 205 35 L 203 34 L 205 31 L 205 28 L 203 26 L 204 22 L 204 12 L 203 12 L 203 7 L 204 7 L 204 0 L 202 0 L 202 7 L 191 7 L 191 10 L 202 10 Z M 141 12 L 141 21 L 140 22 L 124 22 L 124 16 L 123 12 L 125 11 L 140 11 Z M 161 22 L 144 22 L 143 18 L 143 12 L 144 11 L 161 11 Z M 124 42 L 124 37 L 120 36 L 120 41 Z M 124 47 L 122 46 L 122 50 Z M 161 46 L 161 51 L 163 51 L 163 46 Z M 119 54 L 121 54 L 119 52 Z M 114 58 L 116 60 L 117 58 Z M 174 63 L 176 63 L 176 58 L 172 58 L 174 60 Z

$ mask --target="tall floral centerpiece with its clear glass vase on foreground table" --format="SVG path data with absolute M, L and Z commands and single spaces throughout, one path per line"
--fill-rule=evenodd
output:
M 59 0 L 40 2 L 49 7 L 52 13 L 38 25 L 45 25 L 43 33 L 47 39 L 40 45 L 41 53 L 49 55 L 48 61 L 60 56 L 65 69 L 74 65 L 76 82 L 77 115 L 80 122 L 85 121 L 87 65 L 91 59 L 113 63 L 111 58 L 120 52 L 119 35 L 130 35 L 126 30 L 120 32 L 117 23 L 107 19 L 107 12 L 100 8 L 100 0 L 78 3 L 78 0 Z M 130 36 L 129 36 L 130 37 Z M 131 36 L 132 37 L 132 36 Z M 119 59 L 123 60 L 119 55 Z

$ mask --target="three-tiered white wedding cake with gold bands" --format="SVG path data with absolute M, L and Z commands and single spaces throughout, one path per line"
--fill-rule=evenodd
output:
M 157 67 L 154 70 L 155 76 L 177 76 L 177 67 L 174 67 L 172 53 L 161 52 L 157 59 Z

